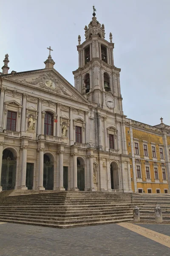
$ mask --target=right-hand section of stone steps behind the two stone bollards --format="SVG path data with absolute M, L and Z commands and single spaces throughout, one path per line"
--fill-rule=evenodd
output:
M 161 207 L 163 221 L 170 221 L 170 195 L 133 194 L 132 202 L 140 208 L 141 221 L 155 221 L 154 209 L 157 205 Z

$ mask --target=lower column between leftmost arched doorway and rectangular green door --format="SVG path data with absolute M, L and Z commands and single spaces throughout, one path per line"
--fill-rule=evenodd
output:
M 22 145 L 21 149 L 23 150 L 22 154 L 22 169 L 21 169 L 21 186 L 20 189 L 26 190 L 26 162 L 27 162 L 27 145 Z

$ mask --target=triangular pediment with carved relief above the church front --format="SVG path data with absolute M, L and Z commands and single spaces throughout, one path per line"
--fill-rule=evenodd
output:
M 6 79 L 15 80 L 19 83 L 36 87 L 39 90 L 90 104 L 74 86 L 53 68 L 9 74 Z

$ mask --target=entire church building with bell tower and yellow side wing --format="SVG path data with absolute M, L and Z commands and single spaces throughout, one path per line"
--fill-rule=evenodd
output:
M 8 73 L 5 55 L 0 191 L 169 192 L 170 127 L 163 122 L 147 127 L 126 118 L 112 34 L 106 41 L 105 26 L 93 15 L 82 44 L 78 37 L 74 87 L 54 69 L 51 47 L 40 70 Z M 159 176 L 152 174 L 154 168 Z

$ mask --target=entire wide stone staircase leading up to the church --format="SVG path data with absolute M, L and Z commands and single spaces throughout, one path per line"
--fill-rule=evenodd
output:
M 110 192 L 10 190 L 0 193 L 0 221 L 47 227 L 82 227 L 133 220 L 154 220 L 154 208 L 170 220 L 170 195 Z

